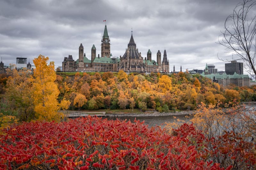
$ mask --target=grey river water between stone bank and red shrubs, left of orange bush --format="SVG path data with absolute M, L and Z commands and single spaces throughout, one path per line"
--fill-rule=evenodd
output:
M 193 118 L 193 115 L 175 115 L 176 119 L 184 120 L 186 123 L 191 123 L 190 119 Z M 102 117 L 105 118 L 105 117 Z M 120 120 L 131 120 L 131 122 L 134 121 L 135 117 L 131 116 L 119 116 L 119 117 L 106 117 L 109 120 L 116 120 L 117 118 Z M 161 126 L 161 128 L 164 128 L 165 122 L 174 122 L 175 118 L 170 116 L 136 116 L 136 120 L 140 120 L 140 122 L 145 121 L 145 124 L 148 125 L 148 127 L 154 127 L 154 126 Z

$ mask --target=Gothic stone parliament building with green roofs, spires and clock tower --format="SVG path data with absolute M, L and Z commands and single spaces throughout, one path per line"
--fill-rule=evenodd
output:
M 108 36 L 107 25 L 105 25 L 101 39 L 101 55 L 96 55 L 96 47 L 93 44 L 91 48 L 91 60 L 89 60 L 84 53 L 84 46 L 81 43 L 79 46 L 78 59 L 74 60 L 72 55 L 68 55 L 68 57 L 64 57 L 64 61 L 62 62 L 62 71 L 64 72 L 105 72 L 119 70 L 124 70 L 125 72 L 168 73 L 169 60 L 167 59 L 166 50 L 164 50 L 163 60 L 161 60 L 161 52 L 159 50 L 156 53 L 156 61 L 152 60 L 150 49 L 148 49 L 147 57 L 143 58 L 136 47 L 133 36 L 131 36 L 124 55 L 113 57 L 110 53 L 110 39 Z

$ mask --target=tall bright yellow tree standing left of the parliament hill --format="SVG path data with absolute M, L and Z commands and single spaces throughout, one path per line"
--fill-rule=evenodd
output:
M 35 58 L 34 71 L 35 82 L 33 83 L 33 98 L 35 105 L 36 118 L 45 121 L 60 121 L 63 116 L 61 109 L 67 109 L 69 106 L 68 100 L 62 100 L 60 103 L 57 97 L 60 93 L 55 84 L 56 73 L 54 71 L 54 62 L 51 61 L 48 65 L 48 57 L 39 55 Z

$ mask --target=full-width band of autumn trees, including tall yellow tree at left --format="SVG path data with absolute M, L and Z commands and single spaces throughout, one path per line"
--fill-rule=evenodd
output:
M 140 109 L 159 112 L 195 110 L 197 103 L 225 106 L 256 101 L 256 87 L 223 88 L 200 76 L 141 73 L 56 73 L 40 58 L 39 71 L 9 70 L 0 75 L 0 113 L 20 121 L 60 120 L 58 110 Z M 51 68 L 51 69 L 49 69 Z M 65 103 L 63 103 L 65 102 Z M 64 104 L 64 105 L 63 105 Z M 43 109 L 42 109 L 43 108 Z M 52 111 L 53 110 L 53 111 Z

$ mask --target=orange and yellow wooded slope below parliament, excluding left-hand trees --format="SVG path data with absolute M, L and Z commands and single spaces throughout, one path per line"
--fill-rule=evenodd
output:
M 71 110 L 133 109 L 194 110 L 197 103 L 239 103 L 256 100 L 256 88 L 223 88 L 199 74 L 59 73 L 59 99 L 69 99 Z

